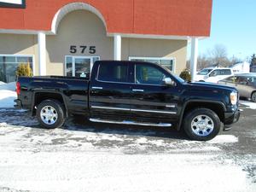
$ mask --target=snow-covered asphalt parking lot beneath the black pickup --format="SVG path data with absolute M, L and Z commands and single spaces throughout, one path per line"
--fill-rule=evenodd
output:
M 255 191 L 256 110 L 209 142 L 182 132 L 68 119 L 44 130 L 0 109 L 0 191 Z

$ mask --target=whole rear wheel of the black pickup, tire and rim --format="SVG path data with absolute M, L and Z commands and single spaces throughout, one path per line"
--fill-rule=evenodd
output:
M 58 128 L 65 123 L 65 109 L 57 100 L 44 100 L 38 105 L 37 118 L 46 129 Z

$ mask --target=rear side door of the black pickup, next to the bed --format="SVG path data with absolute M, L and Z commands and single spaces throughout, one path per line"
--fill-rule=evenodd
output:
M 99 62 L 90 80 L 91 117 L 121 118 L 131 115 L 131 74 L 128 62 Z

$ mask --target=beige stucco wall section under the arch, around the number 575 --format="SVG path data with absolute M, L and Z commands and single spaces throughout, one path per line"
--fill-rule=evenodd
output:
M 73 11 L 66 15 L 58 28 L 57 35 L 47 36 L 46 48 L 47 73 L 64 74 L 65 55 L 91 56 L 85 49 L 84 54 L 78 49 L 76 54 L 70 53 L 71 45 L 96 46 L 95 56 L 100 56 L 101 60 L 113 59 L 113 38 L 108 38 L 102 20 L 96 15 L 84 11 Z

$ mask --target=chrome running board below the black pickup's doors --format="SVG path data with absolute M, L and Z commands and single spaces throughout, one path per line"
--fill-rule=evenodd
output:
M 90 121 L 91 121 L 91 122 L 94 122 L 94 123 L 122 124 L 122 125 L 143 125 L 143 126 L 160 126 L 160 127 L 172 126 L 172 124 L 167 124 L 167 123 L 160 123 L 160 124 L 139 123 L 139 122 L 129 121 L 129 120 L 114 121 L 114 120 L 105 120 L 105 119 L 93 119 L 93 118 L 90 118 Z

